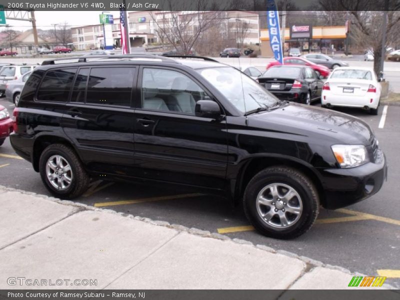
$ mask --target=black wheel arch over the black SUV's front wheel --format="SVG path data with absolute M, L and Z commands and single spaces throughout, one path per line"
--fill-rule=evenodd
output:
M 249 157 L 242 163 L 236 176 L 237 179 L 234 181 L 234 188 L 231 187 L 233 191 L 232 198 L 234 205 L 237 205 L 240 202 L 248 182 L 255 174 L 264 168 L 277 165 L 295 168 L 310 178 L 316 187 L 320 203 L 324 205 L 325 193 L 323 191 L 322 180 L 318 173 L 313 169 L 313 166 L 300 159 L 277 155 Z

